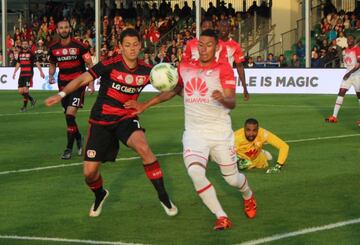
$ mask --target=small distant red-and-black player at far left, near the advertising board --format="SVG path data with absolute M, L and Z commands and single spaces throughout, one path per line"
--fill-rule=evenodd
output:
M 35 105 L 36 99 L 30 96 L 29 88 L 32 87 L 32 78 L 34 75 L 34 63 L 40 71 L 40 76 L 45 78 L 45 75 L 41 69 L 40 63 L 35 61 L 35 54 L 30 50 L 29 42 L 23 40 L 21 42 L 21 51 L 17 59 L 16 67 L 13 74 L 13 79 L 15 80 L 16 72 L 20 70 L 20 76 L 18 81 L 18 92 L 24 97 L 24 105 L 21 107 L 20 111 L 26 111 L 28 101 L 32 106 Z

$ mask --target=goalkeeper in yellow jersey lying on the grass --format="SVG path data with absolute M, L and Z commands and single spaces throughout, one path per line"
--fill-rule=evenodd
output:
M 234 133 L 236 154 L 240 158 L 240 169 L 267 168 L 268 160 L 272 160 L 270 152 L 263 150 L 264 144 L 270 144 L 279 150 L 275 166 L 270 167 L 266 173 L 280 172 L 289 153 L 289 145 L 270 131 L 259 127 L 254 118 L 245 121 L 244 128 Z

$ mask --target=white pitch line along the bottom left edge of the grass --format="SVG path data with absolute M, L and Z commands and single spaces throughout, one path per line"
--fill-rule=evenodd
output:
M 110 244 L 110 245 L 143 245 L 141 243 L 125 243 L 125 242 L 110 242 L 110 241 L 95 241 L 95 240 L 80 240 L 67 239 L 57 237 L 33 237 L 33 236 L 9 236 L 0 235 L 0 239 L 25 240 L 25 241 L 47 241 L 47 242 L 69 242 L 69 243 L 83 243 L 83 244 Z

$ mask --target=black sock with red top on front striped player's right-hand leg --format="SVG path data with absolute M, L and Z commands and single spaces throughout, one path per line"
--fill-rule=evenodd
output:
M 165 190 L 164 180 L 162 177 L 162 171 L 158 161 L 151 164 L 144 165 L 145 173 L 150 179 L 151 183 L 155 187 L 158 193 L 160 201 L 168 208 L 171 208 L 169 196 Z

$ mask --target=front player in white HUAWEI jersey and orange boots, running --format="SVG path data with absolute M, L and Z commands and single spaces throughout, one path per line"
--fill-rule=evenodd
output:
M 209 156 L 220 168 L 227 183 L 237 188 L 244 199 L 248 218 L 256 216 L 256 201 L 244 174 L 236 166 L 234 136 L 229 112 L 235 108 L 235 78 L 227 62 L 217 62 L 218 37 L 205 30 L 199 38 L 199 60 L 183 61 L 179 66 L 179 83 L 173 91 L 163 92 L 138 103 L 129 101 L 125 108 L 141 113 L 150 106 L 183 93 L 185 131 L 183 157 L 195 190 L 204 204 L 216 215 L 215 230 L 229 229 L 230 219 L 221 207 L 215 188 L 206 177 Z

